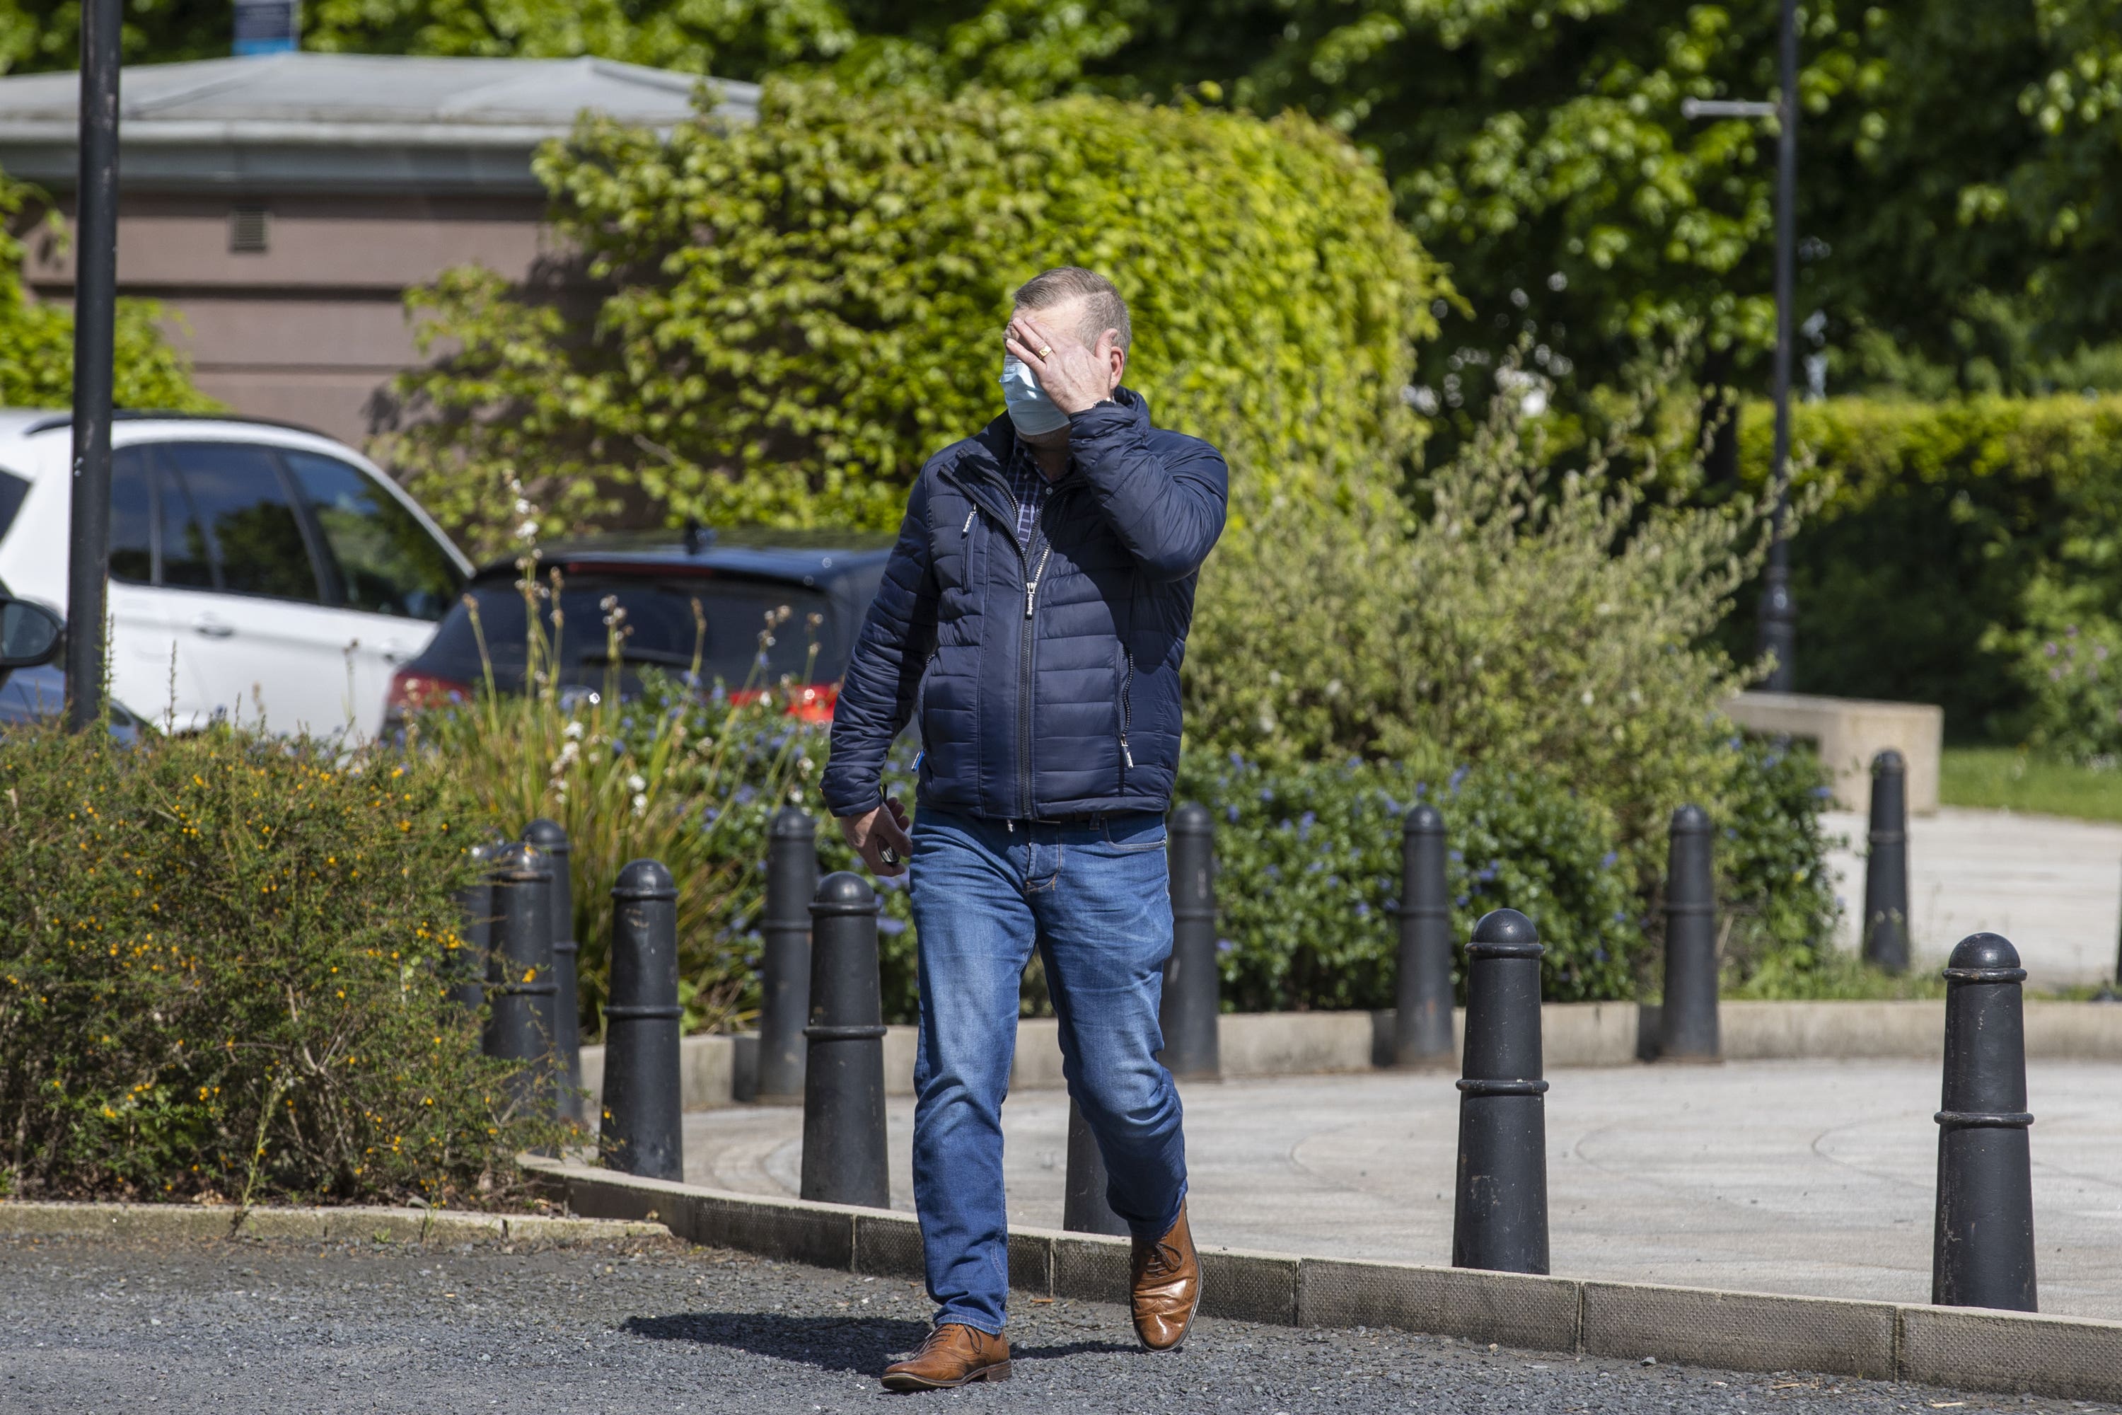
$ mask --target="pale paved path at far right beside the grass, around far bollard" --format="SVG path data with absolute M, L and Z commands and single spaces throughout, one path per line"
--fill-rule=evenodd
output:
M 1842 897 L 1836 942 L 1855 948 L 1865 817 L 1831 810 L 1821 825 L 1844 838 L 1827 866 Z M 2029 986 L 2116 976 L 2122 823 L 1946 806 L 1910 819 L 1908 876 L 1910 942 L 1923 965 L 1944 967 L 1952 944 L 1988 929 L 2018 946 Z

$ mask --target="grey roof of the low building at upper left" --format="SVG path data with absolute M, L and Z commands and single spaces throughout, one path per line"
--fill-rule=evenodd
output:
M 134 64 L 119 78 L 119 176 L 149 187 L 535 189 L 530 153 L 581 110 L 668 129 L 700 78 L 613 59 L 280 53 Z M 758 85 L 715 81 L 749 121 Z M 72 187 L 81 81 L 0 76 L 0 170 Z

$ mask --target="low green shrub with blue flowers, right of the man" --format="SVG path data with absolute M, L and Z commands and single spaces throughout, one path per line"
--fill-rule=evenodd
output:
M 1831 946 L 1819 757 L 1740 738 L 1717 853 L 1727 957 L 1742 982 L 1763 953 Z M 1398 948 L 1401 823 L 1445 815 L 1458 938 L 1492 908 L 1521 910 L 1547 946 L 1551 1001 L 1638 997 L 1662 948 L 1662 842 L 1630 849 L 1613 815 L 1553 772 L 1488 764 L 1290 764 L 1188 751 L 1180 798 L 1222 815 L 1216 904 L 1224 1006 L 1237 1012 L 1390 1008 Z M 1265 817 L 1252 802 L 1275 802 Z M 1218 810 L 1220 808 L 1220 810 Z M 1290 813 L 1290 815 L 1282 815 Z

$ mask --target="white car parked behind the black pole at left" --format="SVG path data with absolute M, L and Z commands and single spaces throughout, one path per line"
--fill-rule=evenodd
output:
M 369 738 L 471 564 L 350 448 L 244 418 L 110 431 L 110 696 L 176 732 L 233 717 Z M 66 611 L 68 414 L 0 412 L 0 588 Z

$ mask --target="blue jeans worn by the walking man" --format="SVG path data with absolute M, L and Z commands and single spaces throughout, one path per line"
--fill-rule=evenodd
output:
M 1112 1211 L 1156 1239 L 1186 1199 L 1180 1095 L 1156 1061 L 1171 957 L 1165 821 L 987 821 L 927 808 L 912 840 L 915 1209 L 927 1286 L 938 1324 L 999 1332 L 1010 1292 L 1002 1099 L 1033 946 L 1061 1023 L 1061 1071 L 1106 1158 Z

